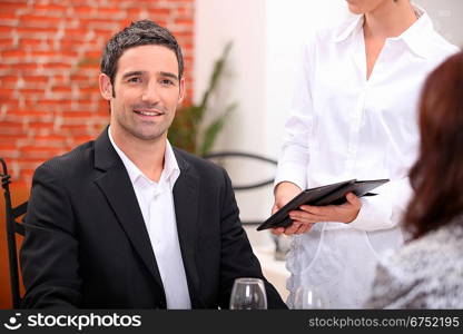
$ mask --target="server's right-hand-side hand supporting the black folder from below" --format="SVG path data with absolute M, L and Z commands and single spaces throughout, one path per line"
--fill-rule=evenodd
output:
M 348 224 L 357 218 L 362 207 L 362 202 L 352 193 L 346 195 L 347 202 L 342 205 L 327 206 L 312 206 L 302 205 L 301 210 L 289 212 L 289 217 L 293 219 L 293 225 L 283 229 L 279 233 L 286 235 L 306 233 L 314 223 L 319 222 L 338 222 Z

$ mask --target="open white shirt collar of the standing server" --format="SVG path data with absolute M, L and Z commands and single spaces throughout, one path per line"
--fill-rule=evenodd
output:
M 400 36 L 390 38 L 390 40 L 403 40 L 414 53 L 426 58 L 428 55 L 428 42 L 426 37 L 430 35 L 425 31 L 433 31 L 433 22 L 423 8 L 416 4 L 412 6 L 418 19 Z M 335 33 L 333 41 L 341 42 L 346 40 L 352 35 L 361 33 L 363 31 L 364 19 L 364 16 L 358 16 L 353 21 L 347 22 L 347 24 Z

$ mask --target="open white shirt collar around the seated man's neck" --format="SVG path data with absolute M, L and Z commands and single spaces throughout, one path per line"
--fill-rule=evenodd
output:
M 116 153 L 122 160 L 124 166 L 127 169 L 127 173 L 129 175 L 130 181 L 135 184 L 140 177 L 145 178 L 149 183 L 154 183 L 150 180 L 130 159 L 126 156 L 126 154 L 116 145 L 116 143 L 112 139 L 110 126 L 108 127 L 108 136 L 109 140 L 111 141 L 112 147 L 115 148 Z M 177 159 L 174 154 L 174 149 L 169 143 L 169 140 L 166 139 L 166 151 L 164 154 L 164 168 L 162 173 L 159 178 L 158 184 L 168 184 L 170 189 L 174 188 L 175 181 L 177 180 L 178 176 L 180 175 L 180 168 L 178 167 Z

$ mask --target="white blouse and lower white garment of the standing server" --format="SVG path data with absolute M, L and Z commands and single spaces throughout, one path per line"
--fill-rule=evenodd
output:
M 305 48 L 275 184 L 305 189 L 352 178 L 391 181 L 362 198 L 351 224 L 315 224 L 294 238 L 289 304 L 297 286 L 311 284 L 331 307 L 359 307 L 378 255 L 403 243 L 397 223 L 411 196 L 420 90 L 427 73 L 457 51 L 414 9 L 418 20 L 386 39 L 368 80 L 363 16 L 319 31 Z

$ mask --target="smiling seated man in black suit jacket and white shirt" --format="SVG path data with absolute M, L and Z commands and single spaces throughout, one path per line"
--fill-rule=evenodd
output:
M 35 174 L 21 267 L 23 307 L 227 308 L 234 279 L 265 281 L 224 169 L 173 148 L 183 56 L 144 20 L 114 36 L 100 91 L 110 126 Z

